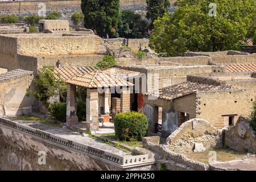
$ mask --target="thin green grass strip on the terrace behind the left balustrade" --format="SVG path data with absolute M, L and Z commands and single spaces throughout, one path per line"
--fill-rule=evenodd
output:
M 19 115 L 19 116 L 11 116 L 10 118 L 15 118 L 17 120 L 23 121 L 31 121 L 35 123 L 43 123 L 45 125 L 53 126 L 53 127 L 61 127 L 61 125 L 57 122 L 51 122 L 46 119 L 38 118 L 33 115 Z

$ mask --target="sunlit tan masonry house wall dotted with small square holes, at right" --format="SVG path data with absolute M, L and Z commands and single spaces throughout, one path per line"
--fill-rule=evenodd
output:
M 251 114 L 251 105 L 247 98 L 245 90 L 197 92 L 197 118 L 222 128 L 229 126 L 226 115 L 234 115 L 236 124 L 238 117 Z

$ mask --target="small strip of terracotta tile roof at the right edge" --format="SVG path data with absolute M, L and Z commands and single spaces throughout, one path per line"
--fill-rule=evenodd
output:
M 256 63 L 228 64 L 226 67 L 228 72 L 256 72 Z

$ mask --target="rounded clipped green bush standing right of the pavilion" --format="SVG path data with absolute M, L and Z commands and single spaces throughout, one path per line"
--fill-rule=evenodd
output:
M 115 136 L 121 140 L 141 140 L 147 134 L 147 117 L 137 112 L 118 113 L 114 119 Z

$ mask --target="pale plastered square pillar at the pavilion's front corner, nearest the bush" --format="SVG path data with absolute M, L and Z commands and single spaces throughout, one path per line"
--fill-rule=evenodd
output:
M 98 131 L 98 90 L 87 89 L 86 97 L 86 130 Z

